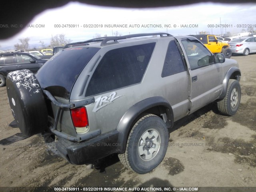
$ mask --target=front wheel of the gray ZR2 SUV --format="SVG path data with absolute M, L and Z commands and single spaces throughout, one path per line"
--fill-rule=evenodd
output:
M 232 116 L 236 114 L 241 99 L 241 87 L 237 80 L 228 81 L 228 89 L 225 98 L 217 102 L 218 110 L 221 114 Z

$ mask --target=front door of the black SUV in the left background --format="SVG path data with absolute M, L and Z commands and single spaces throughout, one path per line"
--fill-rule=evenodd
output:
M 16 54 L 15 58 L 16 58 L 18 70 L 28 69 L 33 73 L 36 73 L 40 68 L 38 62 L 36 62 L 34 58 L 26 54 Z M 33 59 L 35 62 L 34 63 L 30 62 L 31 59 Z

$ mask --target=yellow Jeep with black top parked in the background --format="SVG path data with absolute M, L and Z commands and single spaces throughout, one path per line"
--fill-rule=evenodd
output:
M 191 35 L 200 40 L 212 53 L 223 53 L 226 58 L 232 56 L 232 51 L 228 43 L 224 43 L 216 38 L 215 35 Z

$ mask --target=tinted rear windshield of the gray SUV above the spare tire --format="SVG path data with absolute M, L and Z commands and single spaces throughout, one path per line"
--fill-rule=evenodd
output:
M 80 72 L 100 48 L 76 47 L 58 52 L 38 70 L 40 86 L 52 95 L 69 98 Z

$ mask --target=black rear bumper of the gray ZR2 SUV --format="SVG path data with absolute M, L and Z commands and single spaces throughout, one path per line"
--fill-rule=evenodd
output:
M 47 143 L 47 146 L 52 153 L 71 164 L 87 164 L 117 153 L 122 146 L 118 143 L 118 133 L 114 130 L 85 142 L 72 142 L 58 137 L 56 142 Z

